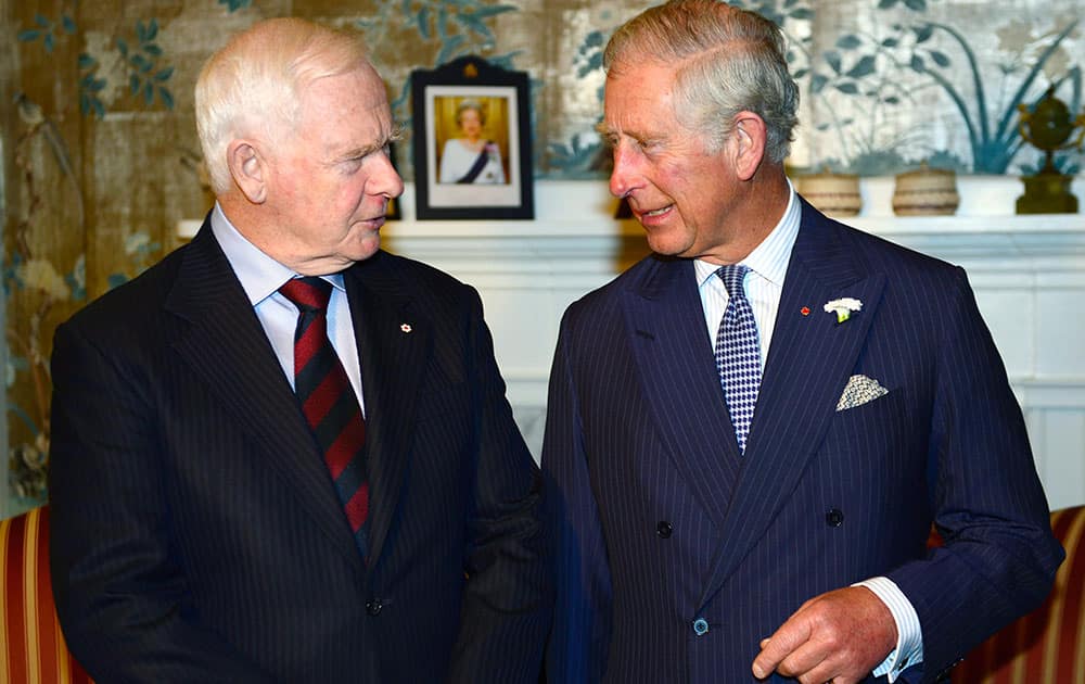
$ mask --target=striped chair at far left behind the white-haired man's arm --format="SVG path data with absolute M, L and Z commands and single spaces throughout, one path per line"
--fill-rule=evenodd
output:
M 90 682 L 64 644 L 49 583 L 49 508 L 0 520 L 0 682 Z

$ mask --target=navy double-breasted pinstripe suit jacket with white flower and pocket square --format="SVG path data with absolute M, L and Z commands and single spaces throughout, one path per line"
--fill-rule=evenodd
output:
M 650 256 L 562 322 L 551 681 L 751 681 L 803 601 L 876 575 L 915 605 L 926 660 L 906 674 L 930 681 L 1043 599 L 1062 553 L 962 270 L 804 202 L 743 457 L 694 280 Z M 822 306 L 844 296 L 863 308 L 838 325 Z M 889 394 L 837 413 L 853 373 Z M 928 555 L 932 519 L 948 543 Z

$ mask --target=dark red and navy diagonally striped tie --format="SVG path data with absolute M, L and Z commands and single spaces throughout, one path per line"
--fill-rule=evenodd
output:
M 298 308 L 294 331 L 294 392 L 324 454 L 324 463 L 346 511 L 355 542 L 366 555 L 369 482 L 363 446 L 366 420 L 343 364 L 328 339 L 332 284 L 316 277 L 294 278 L 279 288 Z

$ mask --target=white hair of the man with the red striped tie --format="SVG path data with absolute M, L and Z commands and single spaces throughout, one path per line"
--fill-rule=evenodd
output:
M 280 139 L 297 125 L 309 85 L 359 67 L 372 68 L 360 37 L 302 18 L 266 20 L 231 38 L 204 64 L 195 88 L 196 130 L 214 191 L 230 188 L 232 139 Z

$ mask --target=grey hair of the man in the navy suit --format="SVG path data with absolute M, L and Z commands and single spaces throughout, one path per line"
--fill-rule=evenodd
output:
M 603 52 L 607 74 L 644 60 L 674 64 L 676 115 L 702 132 L 710 150 L 750 111 L 765 121 L 765 153 L 788 156 L 799 109 L 799 86 L 788 71 L 780 27 L 764 16 L 718 0 L 671 0 L 621 26 Z

